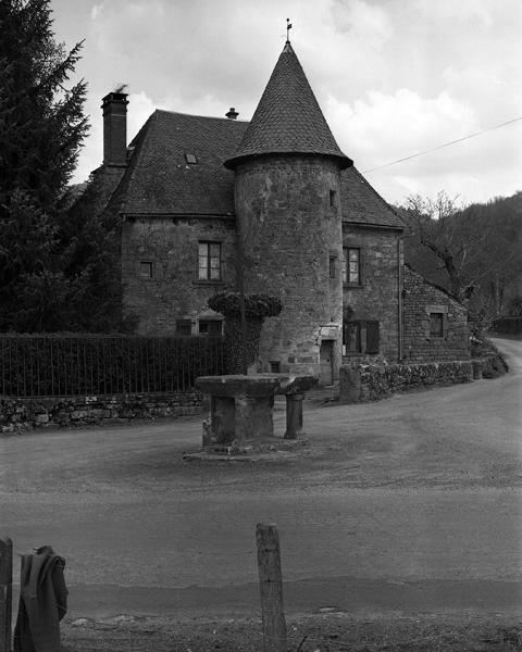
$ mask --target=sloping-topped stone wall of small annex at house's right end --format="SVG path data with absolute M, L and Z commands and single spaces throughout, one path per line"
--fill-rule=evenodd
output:
M 442 313 L 442 336 L 430 334 L 430 315 Z M 403 267 L 403 361 L 453 361 L 470 358 L 468 312 L 444 290 Z

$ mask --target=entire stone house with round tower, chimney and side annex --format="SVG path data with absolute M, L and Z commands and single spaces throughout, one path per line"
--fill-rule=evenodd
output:
M 99 210 L 121 216 L 125 310 L 144 335 L 222 331 L 210 296 L 279 297 L 259 372 L 469 356 L 465 311 L 402 261 L 403 224 L 339 149 L 287 41 L 250 122 L 156 111 L 127 147 L 103 98 Z M 243 263 L 241 263 L 243 262 Z

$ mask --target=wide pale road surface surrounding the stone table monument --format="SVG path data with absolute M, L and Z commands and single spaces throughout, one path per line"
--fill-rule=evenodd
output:
M 514 613 L 522 342 L 497 344 L 510 374 L 309 405 L 310 444 L 269 462 L 184 462 L 199 418 L 3 437 L 0 536 L 66 557 L 72 617 L 251 613 L 263 521 L 287 611 Z

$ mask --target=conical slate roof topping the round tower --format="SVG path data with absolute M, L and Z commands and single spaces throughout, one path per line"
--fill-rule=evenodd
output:
M 275 64 L 239 148 L 225 166 L 272 153 L 335 156 L 340 167 L 352 161 L 339 149 L 289 42 Z

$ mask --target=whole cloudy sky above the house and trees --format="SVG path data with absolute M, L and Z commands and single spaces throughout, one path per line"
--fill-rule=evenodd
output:
M 249 120 L 290 40 L 343 151 L 363 173 L 522 116 L 521 0 L 51 0 L 57 40 L 85 39 L 91 129 L 128 84 L 128 139 L 154 109 Z M 389 202 L 522 190 L 522 120 L 365 177 Z

